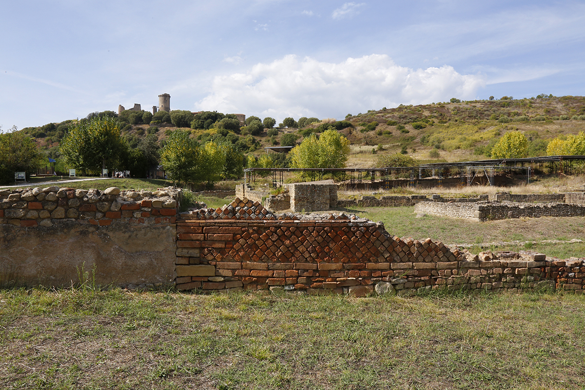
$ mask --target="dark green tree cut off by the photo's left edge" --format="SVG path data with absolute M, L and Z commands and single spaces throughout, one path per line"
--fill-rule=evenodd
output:
M 14 182 L 15 172 L 26 172 L 26 176 L 39 167 L 42 157 L 35 141 L 16 126 L 12 132 L 2 134 L 0 129 L 0 184 Z

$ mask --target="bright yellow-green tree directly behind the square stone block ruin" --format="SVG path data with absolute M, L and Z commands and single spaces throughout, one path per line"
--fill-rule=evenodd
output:
M 291 152 L 292 168 L 344 168 L 349 141 L 336 130 L 325 130 L 317 138 L 311 134 Z

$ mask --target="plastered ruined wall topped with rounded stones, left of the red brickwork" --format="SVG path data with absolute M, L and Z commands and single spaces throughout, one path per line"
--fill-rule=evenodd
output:
M 180 191 L 0 191 L 0 284 L 174 284 Z

